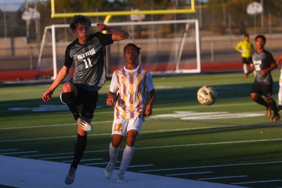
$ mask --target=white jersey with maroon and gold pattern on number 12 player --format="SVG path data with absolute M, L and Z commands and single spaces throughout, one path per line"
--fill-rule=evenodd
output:
M 125 67 L 115 70 L 110 83 L 110 92 L 117 93 L 114 105 L 114 119 L 144 119 L 145 88 L 147 91 L 154 89 L 151 73 L 137 67 L 127 70 Z

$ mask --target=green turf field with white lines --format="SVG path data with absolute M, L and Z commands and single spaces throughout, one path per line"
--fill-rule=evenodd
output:
M 280 72 L 272 75 L 277 101 Z M 128 171 L 243 187 L 282 186 L 282 120 L 270 123 L 265 107 L 251 101 L 253 75 L 154 77 L 153 81 L 157 93 L 153 114 L 143 123 Z M 88 134 L 81 165 L 104 168 L 109 161 L 104 151 L 111 141 L 113 120 L 113 109 L 106 106 L 109 84 L 99 92 L 94 129 Z M 203 85 L 218 92 L 212 106 L 197 101 Z M 41 97 L 47 88 L 0 88 L 0 154 L 71 163 L 77 125 L 60 102 L 61 86 L 44 103 Z M 118 161 L 121 157 L 122 150 Z

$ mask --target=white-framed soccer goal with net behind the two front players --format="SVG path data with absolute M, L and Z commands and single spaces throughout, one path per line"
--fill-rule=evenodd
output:
M 107 47 L 107 74 L 125 65 L 123 47 L 134 43 L 141 48 L 138 63 L 152 74 L 199 73 L 200 43 L 198 20 L 167 20 L 150 22 L 117 22 L 108 26 L 129 33 L 126 40 Z M 92 24 L 92 33 L 98 31 Z M 38 64 L 38 77 L 55 78 L 64 65 L 65 50 L 77 36 L 68 24 L 44 29 Z M 72 68 L 69 74 L 73 74 Z

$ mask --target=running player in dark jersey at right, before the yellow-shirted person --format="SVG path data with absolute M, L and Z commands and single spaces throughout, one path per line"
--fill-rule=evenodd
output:
M 249 73 L 256 71 L 255 83 L 251 88 L 251 99 L 267 108 L 267 117 L 270 117 L 272 110 L 274 115 L 270 121 L 277 121 L 280 119 L 280 115 L 277 111 L 276 102 L 272 98 L 273 80 L 270 74 L 270 71 L 277 68 L 277 64 L 273 56 L 264 50 L 266 38 L 263 35 L 258 35 L 255 41 L 257 50 L 252 55 L 254 66 L 245 73 L 247 78 Z M 261 96 L 265 97 L 267 102 Z

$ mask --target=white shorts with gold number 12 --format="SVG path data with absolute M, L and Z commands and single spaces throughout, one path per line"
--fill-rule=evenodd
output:
M 140 132 L 142 124 L 143 119 L 140 119 L 139 117 L 132 119 L 116 119 L 113 121 L 112 136 L 113 134 L 124 136 L 129 130 L 137 130 Z

